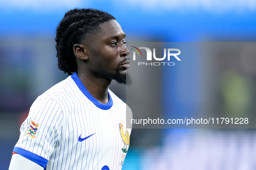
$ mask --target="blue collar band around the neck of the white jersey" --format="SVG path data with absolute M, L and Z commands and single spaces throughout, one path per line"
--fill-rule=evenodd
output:
M 99 107 L 102 110 L 108 110 L 113 106 L 112 98 L 108 92 L 109 101 L 107 104 L 102 104 L 99 101 L 97 101 L 90 93 L 87 91 L 87 89 L 84 87 L 83 83 L 79 79 L 76 72 L 71 75 L 71 78 L 74 80 L 75 84 L 78 86 L 78 88 L 83 92 L 83 94 L 97 107 Z

